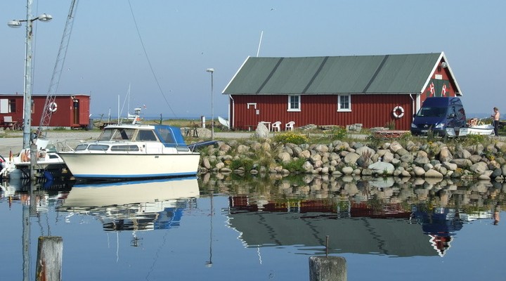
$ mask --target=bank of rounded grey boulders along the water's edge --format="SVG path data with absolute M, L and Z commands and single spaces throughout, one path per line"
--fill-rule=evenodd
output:
M 327 144 L 275 143 L 264 140 L 220 141 L 201 150 L 200 173 L 329 174 L 333 176 L 397 176 L 463 178 L 502 182 L 506 177 L 506 145 L 448 145 L 441 141 Z

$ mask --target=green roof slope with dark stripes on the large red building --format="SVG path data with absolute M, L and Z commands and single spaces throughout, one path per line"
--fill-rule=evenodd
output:
M 443 53 L 249 57 L 224 94 L 420 93 Z

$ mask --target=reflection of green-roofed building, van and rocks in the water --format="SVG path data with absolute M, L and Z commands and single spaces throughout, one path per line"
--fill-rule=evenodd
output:
M 498 223 L 493 208 L 504 200 L 502 184 L 491 182 L 236 177 L 205 182 L 229 189 L 229 223 L 242 242 L 304 254 L 324 254 L 329 236 L 330 253 L 444 256 L 465 223 Z

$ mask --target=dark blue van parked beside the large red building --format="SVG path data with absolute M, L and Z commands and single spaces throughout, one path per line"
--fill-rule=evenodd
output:
M 445 136 L 446 128 L 465 126 L 465 110 L 460 98 L 427 98 L 417 114 L 413 115 L 411 133 L 414 136 L 432 131 L 436 136 Z

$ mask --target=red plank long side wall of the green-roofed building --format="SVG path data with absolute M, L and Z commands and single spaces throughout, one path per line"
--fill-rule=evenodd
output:
M 413 98 L 416 96 L 413 95 Z M 288 98 L 285 95 L 238 95 L 232 96 L 232 100 L 231 124 L 235 129 L 254 129 L 261 121 L 280 121 L 281 128 L 285 129 L 287 122 L 294 121 L 296 127 L 306 124 L 346 126 L 359 123 L 364 128 L 385 127 L 393 122 L 395 129 L 409 130 L 415 113 L 410 96 L 399 94 L 351 95 L 351 112 L 337 112 L 335 95 L 302 95 L 300 112 L 287 110 Z M 400 119 L 396 119 L 392 113 L 396 106 L 404 109 L 404 116 Z

